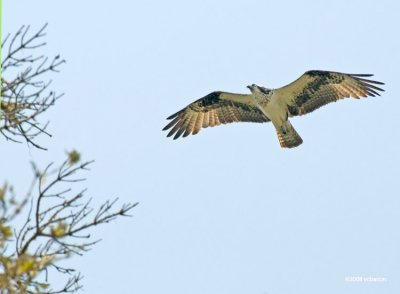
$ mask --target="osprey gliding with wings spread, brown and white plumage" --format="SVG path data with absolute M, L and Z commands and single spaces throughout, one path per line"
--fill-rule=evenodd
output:
M 293 148 L 303 140 L 297 134 L 288 117 L 303 115 L 336 102 L 339 99 L 367 97 L 384 91 L 375 86 L 384 83 L 365 79 L 371 74 L 344 74 L 340 72 L 311 70 L 287 86 L 267 89 L 255 84 L 247 86 L 251 94 L 235 94 L 215 91 L 169 116 L 172 120 L 163 129 L 172 130 L 178 139 L 197 134 L 202 128 L 231 122 L 271 121 L 278 134 L 281 147 Z M 374 85 L 375 84 L 375 85 Z

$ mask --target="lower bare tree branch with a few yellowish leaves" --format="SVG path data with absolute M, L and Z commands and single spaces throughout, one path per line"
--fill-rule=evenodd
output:
M 83 181 L 78 174 L 88 171 L 88 166 L 93 162 L 78 164 L 80 156 L 77 153 L 71 156 L 71 153 L 57 168 L 50 163 L 40 170 L 32 163 L 34 181 L 28 197 L 23 200 L 25 204 L 30 203 L 28 216 L 21 229 L 14 232 L 15 251 L 7 254 L 8 248 L 4 246 L 1 250 L 0 269 L 3 268 L 4 273 L 0 270 L 0 293 L 22 293 L 12 292 L 15 289 L 25 289 L 23 293 L 48 294 L 77 291 L 81 288 L 81 274 L 59 262 L 73 255 L 82 255 L 100 241 L 92 239 L 89 233 L 92 227 L 113 221 L 119 216 L 130 216 L 129 212 L 138 204 L 122 204 L 119 209 L 114 209 L 117 198 L 95 209 L 91 206 L 91 198 L 85 200 L 86 189 L 79 192 L 74 192 L 71 187 L 66 189 L 65 183 Z M 16 206 L 20 207 L 20 204 Z M 15 218 L 13 213 L 9 216 L 12 218 L 8 218 L 8 215 L 3 217 L 0 227 Z M 68 276 L 62 289 L 50 289 L 46 282 L 47 276 L 55 272 Z M 45 273 L 44 281 L 41 281 L 44 278 L 41 273 Z M 12 285 L 7 291 L 1 287 L 5 277 Z

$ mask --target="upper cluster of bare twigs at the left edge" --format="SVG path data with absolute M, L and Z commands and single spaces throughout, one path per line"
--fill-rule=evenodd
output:
M 22 26 L 12 38 L 7 35 L 1 43 L 1 49 L 7 53 L 1 61 L 1 121 L 0 133 L 12 142 L 21 142 L 45 148 L 35 142 L 40 134 L 51 136 L 46 131 L 48 122 L 41 123 L 41 114 L 54 105 L 62 94 L 50 91 L 51 80 L 45 76 L 58 72 L 65 62 L 59 55 L 52 59 L 43 55 L 32 55 L 34 49 L 46 45 L 42 42 L 45 36 L 45 24 L 39 31 L 30 35 L 30 27 Z

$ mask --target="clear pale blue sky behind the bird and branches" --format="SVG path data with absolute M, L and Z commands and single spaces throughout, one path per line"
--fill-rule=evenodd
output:
M 48 22 L 49 150 L 5 142 L 0 179 L 24 195 L 29 161 L 77 149 L 93 205 L 140 202 L 70 260 L 83 293 L 400 291 L 399 1 L 3 1 L 2 34 Z M 214 90 L 284 86 L 310 69 L 373 73 L 381 97 L 173 141 L 165 118 Z M 384 277 L 350 283 L 345 277 Z M 57 283 L 57 281 L 56 281 Z

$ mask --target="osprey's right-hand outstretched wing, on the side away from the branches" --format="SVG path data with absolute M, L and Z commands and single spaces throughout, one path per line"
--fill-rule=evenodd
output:
M 375 85 L 384 83 L 365 79 L 371 74 L 344 74 L 311 70 L 293 83 L 276 89 L 275 93 L 288 105 L 290 116 L 303 115 L 339 99 L 375 96 L 384 91 Z

